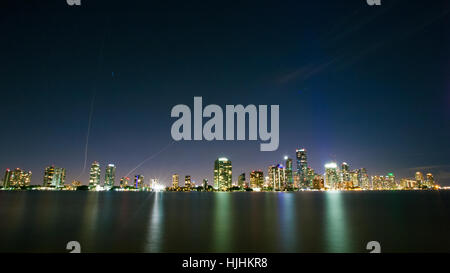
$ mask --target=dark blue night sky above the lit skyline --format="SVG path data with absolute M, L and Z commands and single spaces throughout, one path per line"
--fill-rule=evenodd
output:
M 54 164 L 87 184 L 97 160 L 116 184 L 199 183 L 225 156 L 235 181 L 306 148 L 319 173 L 335 160 L 450 185 L 450 1 L 81 1 L 2 3 L 2 170 L 42 184 Z M 279 149 L 171 144 L 170 111 L 194 96 L 280 105 Z

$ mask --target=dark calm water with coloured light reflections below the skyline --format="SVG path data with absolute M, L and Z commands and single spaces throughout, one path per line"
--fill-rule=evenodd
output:
M 450 191 L 0 192 L 0 252 L 450 252 Z

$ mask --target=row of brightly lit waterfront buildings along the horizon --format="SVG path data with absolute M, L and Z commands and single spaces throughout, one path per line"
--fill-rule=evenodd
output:
M 318 174 L 308 166 L 307 151 L 296 150 L 296 169 L 293 168 L 293 160 L 284 158 L 283 164 L 271 165 L 266 175 L 262 170 L 253 170 L 249 177 L 245 173 L 238 176 L 233 183 L 232 163 L 228 158 L 218 158 L 214 162 L 214 181 L 208 184 L 203 179 L 200 185 L 196 185 L 190 175 L 184 177 L 184 185 L 180 183 L 178 174 L 172 175 L 172 185 L 167 187 L 170 191 L 229 191 L 229 190 L 254 190 L 254 191 L 294 191 L 294 190 L 397 190 L 397 189 L 437 189 L 431 173 L 424 175 L 417 172 L 413 179 L 403 178 L 396 180 L 393 173 L 369 177 L 365 168 L 350 169 L 350 165 L 342 163 L 325 164 L 325 172 Z M 30 187 L 31 172 L 19 168 L 7 169 L 3 179 L 3 189 L 24 189 Z M 73 181 L 66 185 L 66 170 L 55 166 L 49 166 L 44 170 L 43 184 L 39 189 L 79 189 L 87 190 L 162 190 L 157 179 L 151 179 L 145 183 L 143 175 L 122 177 L 116 186 L 116 166 L 108 164 L 102 181 L 100 164 L 92 163 L 89 173 L 88 185 L 82 185 L 80 181 Z

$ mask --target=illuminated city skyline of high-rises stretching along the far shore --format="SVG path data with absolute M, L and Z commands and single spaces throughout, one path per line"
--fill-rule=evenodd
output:
M 417 171 L 415 172 L 414 177 L 401 177 L 399 181 L 399 177 L 396 177 L 393 172 L 370 175 L 370 172 L 368 172 L 366 168 L 354 169 L 351 168 L 347 162 L 342 162 L 340 166 L 337 162 L 328 162 L 324 164 L 324 171 L 320 173 L 308 164 L 307 149 L 296 149 L 295 155 L 297 162 L 295 168 L 292 165 L 292 158 L 285 155 L 283 158 L 285 165 L 282 163 L 269 165 L 266 172 L 263 171 L 264 168 L 247 170 L 237 175 L 237 178 L 236 176 L 232 176 L 232 161 L 226 157 L 219 157 L 214 162 L 213 180 L 210 180 L 213 181 L 213 184 L 210 186 L 219 191 L 226 191 L 235 186 L 241 188 L 257 188 L 258 190 L 262 189 L 264 186 L 273 190 L 284 191 L 292 190 L 294 188 L 298 190 L 325 188 L 348 190 L 355 187 L 361 189 L 382 190 L 397 189 L 398 187 L 414 188 L 417 186 L 420 187 L 421 185 L 433 188 L 435 185 L 440 184 L 438 179 L 436 179 L 431 172 L 425 172 L 426 179 L 424 178 L 424 173 Z M 249 174 L 248 180 L 245 178 L 246 173 Z M 120 178 L 119 182 L 116 183 L 116 165 L 112 163 L 108 163 L 104 168 L 104 179 L 101 178 L 102 174 L 101 163 L 94 161 L 89 168 L 89 182 L 87 184 L 80 180 L 73 180 L 69 184 L 65 184 L 66 169 L 51 165 L 44 169 L 42 186 L 44 188 L 52 187 L 60 189 L 66 185 L 76 184 L 77 186 L 88 186 L 90 190 L 98 190 L 99 188 L 109 190 L 117 186 L 120 188 L 123 186 L 131 186 L 136 189 L 142 189 L 144 187 L 153 188 L 155 185 L 158 185 L 158 187 L 161 185 L 167 188 L 194 188 L 196 186 L 207 185 L 207 181 L 209 180 L 207 177 L 203 177 L 199 178 L 199 182 L 196 182 L 196 179 L 192 179 L 191 175 L 186 174 L 184 185 L 182 185 L 179 182 L 179 172 L 177 172 L 170 175 L 171 180 L 153 176 L 150 179 L 147 179 L 148 183 L 146 183 L 144 175 L 135 174 L 133 182 L 131 181 L 130 176 L 123 176 Z M 16 176 L 19 176 L 19 178 L 15 178 Z M 397 180 L 395 180 L 396 178 Z M 6 169 L 4 178 L 2 179 L 2 186 L 4 188 L 8 188 L 8 185 L 10 186 L 11 181 L 9 180 L 13 181 L 12 184 L 16 184 L 15 187 L 40 185 L 39 183 L 31 183 L 31 181 L 33 181 L 31 171 L 22 170 L 20 168 L 15 168 L 14 171 L 11 171 L 9 168 Z M 350 183 L 350 185 L 347 185 L 346 183 Z

